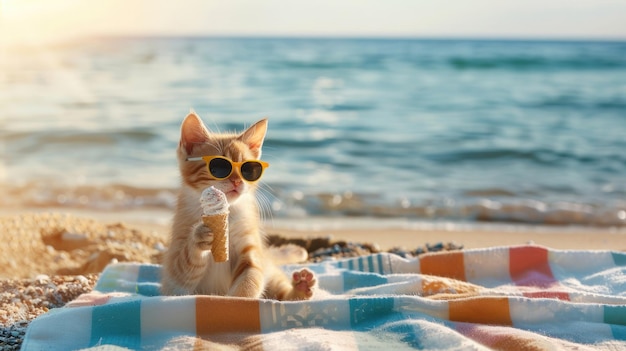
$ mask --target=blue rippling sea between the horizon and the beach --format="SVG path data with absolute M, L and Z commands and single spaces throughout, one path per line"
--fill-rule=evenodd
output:
M 174 209 L 190 110 L 266 216 L 626 227 L 626 42 L 92 37 L 0 53 L 0 206 Z

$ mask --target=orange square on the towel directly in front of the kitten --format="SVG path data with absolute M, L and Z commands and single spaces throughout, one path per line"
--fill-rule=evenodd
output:
M 196 335 L 260 333 L 259 302 L 215 296 L 196 297 Z

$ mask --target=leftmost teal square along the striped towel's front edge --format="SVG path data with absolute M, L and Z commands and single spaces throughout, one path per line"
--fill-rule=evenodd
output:
M 91 318 L 91 346 L 141 347 L 141 300 L 95 306 Z

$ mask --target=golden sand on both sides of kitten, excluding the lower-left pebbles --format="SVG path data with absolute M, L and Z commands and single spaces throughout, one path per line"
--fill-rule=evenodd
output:
M 111 261 L 159 263 L 172 214 L 164 210 L 0 209 L 0 279 L 99 273 Z M 534 243 L 554 249 L 626 250 L 626 228 L 423 223 L 398 219 L 302 218 L 265 222 L 268 234 L 331 238 L 411 251 L 425 244 L 465 249 Z

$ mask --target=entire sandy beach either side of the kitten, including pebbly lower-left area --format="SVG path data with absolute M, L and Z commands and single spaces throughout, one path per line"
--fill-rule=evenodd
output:
M 172 214 L 67 208 L 0 208 L 0 349 L 19 349 L 28 323 L 93 289 L 111 262 L 160 263 Z M 554 249 L 626 250 L 626 229 L 459 225 L 394 219 L 268 220 L 281 240 L 409 253 L 417 248 L 465 249 L 532 242 Z M 355 242 L 367 245 L 350 246 Z M 456 245 L 452 245 L 454 243 Z M 308 245 L 307 244 L 307 245 Z M 354 249 L 356 247 L 356 249 Z

